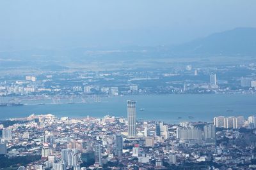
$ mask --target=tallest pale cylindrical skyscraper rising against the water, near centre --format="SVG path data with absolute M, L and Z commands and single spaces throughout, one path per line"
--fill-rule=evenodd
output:
M 127 101 L 128 136 L 136 136 L 136 108 L 135 101 Z

